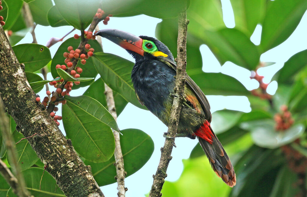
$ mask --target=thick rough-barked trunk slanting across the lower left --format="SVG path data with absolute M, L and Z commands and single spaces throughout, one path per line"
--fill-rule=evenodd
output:
M 104 196 L 90 166 L 84 165 L 71 141 L 35 101 L 37 96 L 25 77 L 24 65 L 18 62 L 1 26 L 0 94 L 6 111 L 17 123 L 17 131 L 25 137 L 37 133 L 27 140 L 65 195 Z

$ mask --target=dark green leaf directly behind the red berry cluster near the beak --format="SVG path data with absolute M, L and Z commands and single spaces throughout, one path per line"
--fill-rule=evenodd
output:
M 55 55 L 52 58 L 52 62 L 51 62 L 51 74 L 53 78 L 58 77 L 58 73 L 56 72 L 56 65 L 60 64 L 63 65 L 65 64 L 64 60 L 65 58 L 63 57 L 63 53 L 64 52 L 68 52 L 67 48 L 69 46 L 72 46 L 74 49 L 78 48 L 79 44 L 80 44 L 81 38 L 79 39 L 74 39 L 74 38 L 68 38 L 67 40 L 65 40 L 60 47 L 58 48 L 58 50 L 56 51 Z M 99 45 L 99 43 L 96 40 L 88 40 L 88 44 L 91 45 L 92 48 L 95 49 L 95 52 L 101 52 L 102 48 Z M 83 65 L 81 64 L 81 61 L 78 61 L 77 66 L 79 66 L 80 68 L 83 69 L 83 72 L 80 74 L 81 77 L 93 77 L 95 78 L 97 76 L 97 71 L 93 65 L 93 61 L 92 61 L 92 57 L 90 57 L 89 59 L 86 60 L 86 64 Z M 80 83 L 80 85 L 74 85 L 72 86 L 72 89 L 78 89 L 80 87 L 85 87 L 87 85 L 90 85 L 91 83 L 93 83 L 94 80 L 91 81 L 85 81 Z

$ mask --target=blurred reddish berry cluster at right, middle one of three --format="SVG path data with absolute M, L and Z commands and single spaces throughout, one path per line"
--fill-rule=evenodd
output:
M 276 131 L 286 130 L 294 123 L 291 113 L 288 111 L 288 107 L 286 105 L 282 105 L 280 109 L 282 113 L 277 113 L 274 115 L 274 120 L 276 122 Z

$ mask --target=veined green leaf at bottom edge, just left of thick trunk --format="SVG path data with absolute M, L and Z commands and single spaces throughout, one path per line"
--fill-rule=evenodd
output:
M 65 195 L 56 185 L 56 181 L 53 179 L 53 177 L 48 172 L 44 172 L 43 175 L 43 172 L 44 169 L 36 167 L 29 168 L 22 172 L 23 176 L 25 177 L 26 188 L 31 193 L 31 195 L 37 197 L 64 197 Z M 8 191 L 7 196 L 16 196 L 13 193 L 12 188 L 10 188 L 10 190 Z

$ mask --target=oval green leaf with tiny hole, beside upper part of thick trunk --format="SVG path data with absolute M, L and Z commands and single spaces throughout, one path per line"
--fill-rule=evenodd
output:
M 25 64 L 26 72 L 37 71 L 51 60 L 49 49 L 40 44 L 18 44 L 12 48 L 19 63 Z

